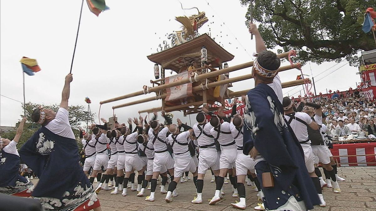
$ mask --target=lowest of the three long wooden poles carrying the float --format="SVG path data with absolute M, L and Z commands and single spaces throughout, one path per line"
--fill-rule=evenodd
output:
M 302 85 L 304 84 L 306 79 L 300 79 L 300 80 L 295 80 L 295 81 L 288 81 L 288 82 L 284 82 L 282 83 L 282 88 L 287 88 L 287 87 L 291 87 L 291 86 L 298 86 L 298 85 Z M 238 92 L 231 92 L 229 93 L 229 96 L 228 98 L 233 98 L 233 97 L 240 97 L 242 95 L 245 95 L 247 92 L 249 92 L 250 89 L 246 89 L 246 90 L 242 90 L 242 91 L 238 91 Z M 189 105 L 201 105 L 203 104 L 203 101 L 199 101 L 199 102 L 193 102 Z M 165 108 L 165 111 L 166 112 L 171 112 L 171 111 L 174 111 L 174 110 L 178 110 L 178 109 L 185 109 L 188 105 L 187 104 L 184 104 L 184 105 L 175 105 L 175 106 L 171 106 L 171 107 L 166 107 Z M 146 109 L 146 110 L 139 110 L 138 113 L 151 113 L 153 111 L 161 111 L 162 108 L 161 107 L 156 107 L 156 108 L 153 108 L 153 109 Z

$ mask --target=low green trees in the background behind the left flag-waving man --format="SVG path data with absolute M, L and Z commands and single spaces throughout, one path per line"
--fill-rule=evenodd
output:
M 40 125 L 33 123 L 32 120 L 31 120 L 31 114 L 32 114 L 33 110 L 38 106 L 39 106 L 39 104 L 35 104 L 35 103 L 32 103 L 32 102 L 27 102 L 25 105 L 22 105 L 22 108 L 23 109 L 25 108 L 26 115 L 22 114 L 20 116 L 21 116 L 21 118 L 26 116 L 27 121 L 24 125 L 24 130 L 22 132 L 22 136 L 21 136 L 20 140 L 18 141 L 18 145 L 17 145 L 18 149 L 20 149 L 21 146 L 31 136 L 33 136 L 33 134 L 41 127 Z M 59 109 L 58 104 L 43 105 L 43 107 L 46 108 L 46 109 L 51 109 L 55 112 L 57 112 L 58 109 Z M 78 135 L 79 135 L 79 127 L 85 128 L 87 121 L 89 122 L 89 124 L 91 124 L 91 122 L 94 122 L 95 113 L 91 113 L 91 114 L 88 115 L 86 108 L 83 105 L 70 105 L 68 107 L 68 112 L 69 112 L 69 122 L 70 122 L 71 128 L 73 130 L 73 133 L 76 137 L 78 137 Z M 18 127 L 18 125 L 20 125 L 20 120 L 16 123 L 16 127 Z M 16 132 L 11 131 L 9 133 L 3 134 L 2 137 L 9 139 L 9 140 L 12 140 L 15 135 L 16 135 Z M 78 144 L 79 148 L 82 148 L 82 143 L 80 142 L 80 140 L 77 141 L 77 144 Z

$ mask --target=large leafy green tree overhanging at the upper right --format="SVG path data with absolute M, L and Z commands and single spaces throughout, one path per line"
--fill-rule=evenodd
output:
M 296 50 L 294 61 L 322 63 L 346 58 L 355 66 L 361 50 L 375 49 L 372 32 L 361 24 L 364 12 L 376 0 L 240 0 L 248 6 L 246 25 L 261 23 L 259 31 L 268 48 Z

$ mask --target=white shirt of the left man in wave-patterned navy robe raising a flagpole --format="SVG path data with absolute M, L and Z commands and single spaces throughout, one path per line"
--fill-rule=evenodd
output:
M 56 112 L 55 119 L 50 121 L 45 127 L 56 135 L 69 139 L 76 139 L 72 128 L 70 127 L 68 116 L 69 113 L 67 109 L 60 107 L 58 112 Z

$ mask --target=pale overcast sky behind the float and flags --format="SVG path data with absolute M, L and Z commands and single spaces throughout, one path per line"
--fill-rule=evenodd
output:
M 229 66 L 253 60 L 250 55 L 255 51 L 255 41 L 250 39 L 245 25 L 247 8 L 242 7 L 240 1 L 180 1 L 184 8 L 197 7 L 206 12 L 209 21 L 199 29 L 199 33 L 209 32 L 210 28 L 212 38 L 235 55 L 228 62 Z M 150 85 L 150 79 L 154 78 L 154 63 L 146 56 L 157 52 L 158 45 L 167 40 L 167 33 L 179 30 L 180 23 L 174 20 L 175 16 L 196 13 L 196 10 L 182 10 L 178 0 L 107 0 L 106 4 L 111 9 L 96 17 L 84 2 L 69 99 L 71 105 L 86 106 L 84 99 L 89 96 L 91 111 L 96 113 L 99 101 L 139 91 L 143 85 Z M 0 2 L 1 95 L 23 101 L 22 70 L 18 61 L 26 56 L 37 59 L 42 69 L 34 76 L 25 75 L 26 102 L 60 102 L 64 77 L 70 69 L 80 6 L 80 0 L 65 0 L 63 4 L 51 0 Z M 328 71 L 320 74 L 328 68 Z M 337 68 L 340 69 L 327 75 Z M 358 69 L 350 67 L 346 61 L 337 65 L 334 62 L 321 65 L 307 63 L 303 66 L 303 74 L 312 77 L 311 69 L 317 93 L 326 92 L 326 88 L 354 88 L 355 83 L 360 81 L 359 75 L 355 74 Z M 249 73 L 250 68 L 247 68 L 231 72 L 230 77 Z M 298 74 L 300 72 L 294 69 L 281 72 L 280 77 L 282 82 L 291 81 Z M 169 70 L 166 71 L 168 75 Z M 321 77 L 324 78 L 319 80 Z M 233 83 L 231 89 L 239 91 L 253 87 L 254 82 L 250 79 Z M 301 87 L 286 88 L 284 94 L 297 96 Z M 4 96 L 0 97 L 0 125 L 12 126 L 23 113 L 21 103 Z M 100 116 L 112 116 L 113 105 L 150 96 L 152 94 L 104 104 Z M 126 122 L 126 118 L 136 116 L 138 110 L 160 106 L 161 100 L 152 101 L 117 109 L 115 113 L 120 122 Z M 174 112 L 174 115 L 183 116 L 182 112 Z M 195 115 L 192 115 L 192 124 L 194 119 Z M 182 121 L 189 124 L 188 117 Z

